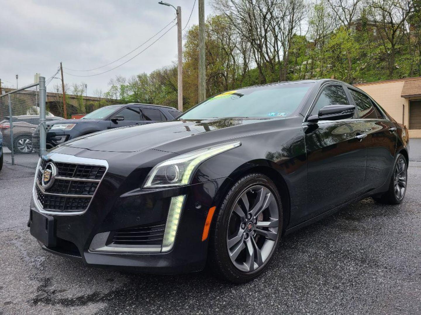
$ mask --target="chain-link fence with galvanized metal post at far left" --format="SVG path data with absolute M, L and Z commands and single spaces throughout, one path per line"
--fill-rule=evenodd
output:
M 41 130 L 43 129 L 43 130 Z M 45 79 L 0 95 L 4 162 L 35 168 L 45 151 Z

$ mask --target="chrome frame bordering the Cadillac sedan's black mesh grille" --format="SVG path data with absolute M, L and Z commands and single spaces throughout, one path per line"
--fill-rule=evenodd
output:
M 57 210 L 50 210 L 50 209 L 44 209 L 42 207 L 42 205 L 40 204 L 40 202 L 38 201 L 37 198 L 37 192 L 35 187 L 38 186 L 37 183 L 37 175 L 38 175 L 38 171 L 40 169 L 40 164 L 41 164 L 41 159 L 43 160 L 52 160 L 53 162 L 58 162 L 58 163 L 70 163 L 70 164 L 79 164 L 79 165 L 95 165 L 95 166 L 104 166 L 105 167 L 105 172 L 104 175 L 101 177 L 101 179 L 99 179 L 99 184 L 96 187 L 95 192 L 93 193 L 93 195 L 63 195 L 63 194 L 53 194 L 53 195 L 61 195 L 61 197 L 90 197 L 91 200 L 88 204 L 88 206 L 86 207 L 85 210 L 81 210 L 81 211 L 57 211 Z M 35 207 L 37 208 L 37 210 L 40 213 L 43 214 L 48 214 L 48 215 L 81 215 L 83 213 L 85 213 L 86 211 L 88 211 L 89 206 L 92 203 L 93 198 L 96 195 L 96 192 L 99 189 L 99 186 L 101 185 L 101 181 L 104 179 L 105 174 L 108 171 L 108 162 L 107 160 L 100 160 L 100 159 L 93 159 L 93 158 L 89 158 L 89 157 L 78 157 L 75 155 L 68 155 L 68 154 L 63 154 L 63 153 L 56 153 L 56 152 L 48 152 L 46 154 L 44 154 L 42 157 L 40 157 L 40 159 L 38 160 L 38 164 L 37 167 L 35 168 L 37 171 L 35 172 L 35 178 L 34 178 L 34 185 L 32 188 L 32 200 L 34 201 Z M 60 178 L 63 179 L 63 178 Z M 73 180 L 72 178 L 68 178 L 69 180 Z

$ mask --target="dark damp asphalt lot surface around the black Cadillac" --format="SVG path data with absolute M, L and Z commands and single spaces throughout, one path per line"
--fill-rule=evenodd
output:
M 282 239 L 245 285 L 87 268 L 26 227 L 32 169 L 0 173 L 0 314 L 421 314 L 421 141 L 397 206 L 364 199 Z M 19 193 L 17 193 L 19 192 Z

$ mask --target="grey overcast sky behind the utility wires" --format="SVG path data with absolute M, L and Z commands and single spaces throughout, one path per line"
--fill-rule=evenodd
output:
M 194 0 L 167 2 L 175 7 L 181 6 L 181 24 L 184 27 Z M 207 16 L 211 8 L 207 0 L 205 3 Z M 0 0 L 2 85 L 16 87 L 16 74 L 19 74 L 19 87 L 33 83 L 37 72 L 46 78 L 51 77 L 60 61 L 64 68 L 70 69 L 103 66 L 145 42 L 175 17 L 175 10 L 159 5 L 158 0 Z M 196 1 L 189 26 L 197 23 Z M 107 67 L 91 72 L 64 71 L 88 75 L 109 70 L 139 53 L 159 36 Z M 144 53 L 125 65 L 99 76 L 75 77 L 64 74 L 64 82 L 72 84 L 83 81 L 88 84 L 88 95 L 93 95 L 94 89 L 107 91 L 109 80 L 116 75 L 128 77 L 149 73 L 171 65 L 176 58 L 177 28 L 173 27 Z M 60 80 L 54 79 L 47 90 L 57 83 L 61 83 Z

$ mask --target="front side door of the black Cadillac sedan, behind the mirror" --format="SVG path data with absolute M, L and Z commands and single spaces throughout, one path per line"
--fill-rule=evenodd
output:
M 316 97 L 309 115 L 327 105 L 350 105 L 340 84 L 329 84 Z M 354 118 L 356 116 L 354 115 Z M 307 153 L 308 207 L 303 220 L 332 209 L 364 191 L 366 147 L 354 118 L 304 123 Z

